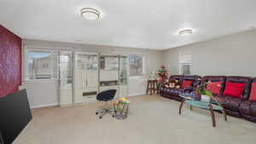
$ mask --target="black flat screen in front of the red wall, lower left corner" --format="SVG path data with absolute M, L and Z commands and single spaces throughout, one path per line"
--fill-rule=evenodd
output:
M 0 144 L 11 144 L 32 119 L 26 89 L 0 98 Z

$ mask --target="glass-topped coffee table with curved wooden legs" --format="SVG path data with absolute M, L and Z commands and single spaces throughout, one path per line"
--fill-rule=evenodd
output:
M 227 115 L 226 112 L 224 111 L 224 107 L 222 106 L 222 104 L 224 104 L 225 102 L 219 102 L 214 98 L 212 98 L 210 101 L 201 101 L 197 100 L 194 94 L 189 93 L 183 93 L 179 96 L 182 97 L 183 100 L 181 101 L 181 104 L 179 106 L 178 114 L 181 114 L 183 103 L 186 103 L 189 105 L 191 111 L 193 110 L 193 107 L 209 110 L 212 116 L 212 127 L 216 127 L 214 111 L 221 111 L 224 115 L 224 120 L 227 121 Z

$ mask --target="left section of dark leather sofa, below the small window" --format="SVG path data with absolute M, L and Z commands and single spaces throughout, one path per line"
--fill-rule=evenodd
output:
M 172 79 L 176 79 L 180 85 L 182 84 L 183 80 L 193 81 L 192 86 L 186 89 L 166 88 L 165 86 L 160 87 L 160 95 L 177 100 L 177 101 L 182 100 L 179 94 L 193 91 L 195 87 L 197 87 L 197 85 L 199 85 L 201 82 L 201 77 L 196 75 L 189 75 L 189 76 L 172 75 L 170 76 L 169 80 L 172 80 Z

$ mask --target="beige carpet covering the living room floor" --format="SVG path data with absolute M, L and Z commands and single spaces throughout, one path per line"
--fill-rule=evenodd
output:
M 102 103 L 79 107 L 49 107 L 32 111 L 33 119 L 15 144 L 255 144 L 256 124 L 220 113 L 212 128 L 210 113 L 158 95 L 130 98 L 125 120 L 98 119 Z

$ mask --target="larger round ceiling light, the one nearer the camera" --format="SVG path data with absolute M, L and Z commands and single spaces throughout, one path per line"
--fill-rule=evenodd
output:
M 92 8 L 81 9 L 81 16 L 87 20 L 98 20 L 100 19 L 100 11 Z

